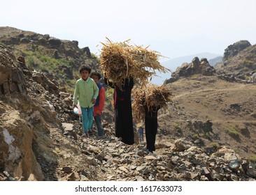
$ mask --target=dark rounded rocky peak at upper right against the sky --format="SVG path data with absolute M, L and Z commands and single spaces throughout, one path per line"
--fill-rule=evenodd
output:
M 227 49 L 225 49 L 223 61 L 227 61 L 227 59 L 236 56 L 239 52 L 247 47 L 250 47 L 250 42 L 248 40 L 240 40 L 235 42 L 233 45 L 229 45 Z

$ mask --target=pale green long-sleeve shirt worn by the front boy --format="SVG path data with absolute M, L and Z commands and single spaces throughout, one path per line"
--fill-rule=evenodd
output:
M 99 95 L 99 88 L 93 79 L 88 77 L 85 81 L 82 78 L 76 81 L 75 91 L 73 93 L 73 105 L 79 101 L 80 107 L 93 107 L 92 99 Z

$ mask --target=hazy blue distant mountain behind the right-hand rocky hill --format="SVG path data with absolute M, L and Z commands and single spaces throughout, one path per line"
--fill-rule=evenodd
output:
M 199 53 L 193 54 L 189 56 L 182 56 L 175 59 L 171 59 L 168 61 L 162 62 L 162 65 L 165 68 L 174 72 L 176 68 L 178 68 L 183 63 L 190 63 L 194 57 L 198 57 L 199 59 L 206 58 L 210 65 L 214 66 L 216 63 L 222 61 L 222 56 L 220 54 L 211 54 L 211 53 Z M 171 78 L 171 72 L 168 73 L 159 73 L 157 72 L 157 77 L 152 77 L 151 83 L 152 84 L 163 84 L 165 79 Z

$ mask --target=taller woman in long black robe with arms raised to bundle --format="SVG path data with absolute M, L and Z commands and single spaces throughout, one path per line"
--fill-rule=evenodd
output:
M 117 86 L 104 77 L 108 86 L 114 88 L 114 109 L 115 109 L 115 137 L 122 138 L 123 143 L 134 144 L 134 129 L 131 112 L 131 89 L 134 87 L 134 79 L 126 78 L 125 84 Z

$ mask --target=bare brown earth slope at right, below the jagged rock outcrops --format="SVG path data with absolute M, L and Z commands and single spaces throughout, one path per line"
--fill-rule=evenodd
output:
M 169 110 L 159 111 L 158 141 L 187 137 L 210 152 L 225 145 L 243 157 L 255 155 L 255 85 L 199 75 L 169 85 L 173 98 Z

